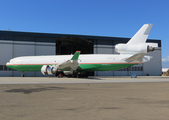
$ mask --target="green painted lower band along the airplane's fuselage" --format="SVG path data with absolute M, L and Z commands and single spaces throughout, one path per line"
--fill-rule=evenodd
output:
M 77 71 L 112 71 L 130 67 L 136 64 L 80 64 Z M 17 71 L 41 71 L 43 65 L 7 65 Z

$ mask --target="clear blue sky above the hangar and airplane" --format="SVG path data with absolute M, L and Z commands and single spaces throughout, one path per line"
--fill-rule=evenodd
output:
M 148 23 L 169 68 L 169 0 L 0 0 L 0 30 L 131 38 Z

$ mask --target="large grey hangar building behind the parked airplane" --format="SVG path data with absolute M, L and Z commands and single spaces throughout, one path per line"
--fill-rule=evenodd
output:
M 66 55 L 80 50 L 81 54 L 118 54 L 115 45 L 127 43 L 130 38 L 102 37 L 88 35 L 49 34 L 32 32 L 0 31 L 0 76 L 21 76 L 21 72 L 6 67 L 6 63 L 19 56 Z M 161 40 L 148 39 L 158 43 Z M 91 72 L 94 76 L 161 76 L 161 50 L 149 52 L 151 61 L 116 71 Z M 41 72 L 26 72 L 25 76 L 43 76 Z

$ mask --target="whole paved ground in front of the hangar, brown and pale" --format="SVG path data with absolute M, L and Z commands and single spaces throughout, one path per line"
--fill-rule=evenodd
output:
M 168 77 L 0 78 L 0 120 L 168 120 L 168 113 Z

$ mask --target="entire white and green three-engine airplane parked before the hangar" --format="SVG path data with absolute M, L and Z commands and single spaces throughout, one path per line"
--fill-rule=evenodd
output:
M 11 59 L 6 66 L 25 71 L 41 71 L 44 75 L 64 73 L 82 74 L 85 71 L 112 71 L 150 61 L 147 52 L 155 48 L 146 43 L 153 24 L 144 24 L 140 30 L 126 43 L 117 44 L 116 52 L 120 54 L 81 54 L 53 56 L 25 56 Z M 80 76 L 80 75 L 79 75 Z

